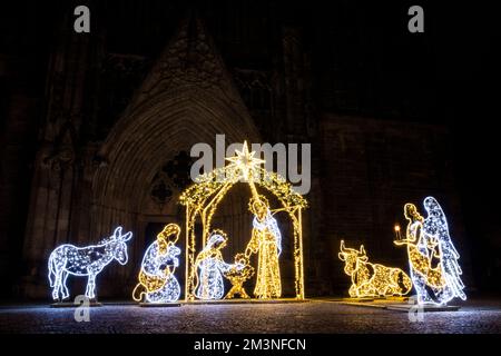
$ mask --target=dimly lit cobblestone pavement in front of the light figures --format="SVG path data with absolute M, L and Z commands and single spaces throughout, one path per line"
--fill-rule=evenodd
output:
M 501 333 L 499 303 L 470 303 L 459 312 L 409 314 L 333 301 L 185 305 L 141 308 L 105 305 L 77 323 L 73 308 L 3 306 L 0 333 Z

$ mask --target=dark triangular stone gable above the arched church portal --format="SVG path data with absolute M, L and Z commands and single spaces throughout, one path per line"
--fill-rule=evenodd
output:
M 236 112 L 232 120 L 239 121 L 250 136 L 258 136 L 213 38 L 196 16 L 180 23 L 179 30 L 136 91 L 125 116 L 140 110 L 158 97 L 186 92 L 187 89 L 209 92 L 227 101 Z

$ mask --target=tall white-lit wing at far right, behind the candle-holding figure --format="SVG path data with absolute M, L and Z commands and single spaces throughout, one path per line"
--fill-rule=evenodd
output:
M 424 208 L 428 211 L 428 217 L 424 221 L 423 230 L 429 237 L 438 240 L 440 264 L 446 286 L 451 289 L 452 297 L 460 297 L 465 300 L 466 295 L 463 291 L 464 284 L 461 280 L 462 270 L 458 261 L 460 255 L 449 235 L 445 214 L 433 197 L 424 199 Z

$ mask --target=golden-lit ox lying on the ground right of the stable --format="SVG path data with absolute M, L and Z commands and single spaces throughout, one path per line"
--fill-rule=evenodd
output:
M 352 277 L 352 298 L 403 296 L 412 288 L 411 278 L 400 268 L 369 263 L 364 246 L 360 250 L 346 248 L 341 241 L 338 257 L 344 273 Z

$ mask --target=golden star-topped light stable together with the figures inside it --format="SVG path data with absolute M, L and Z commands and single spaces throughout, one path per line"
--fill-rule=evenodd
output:
M 187 301 L 235 297 L 249 299 L 250 295 L 257 299 L 281 298 L 283 238 L 293 239 L 295 298 L 305 297 L 302 209 L 306 207 L 306 200 L 283 177 L 263 169 L 264 160 L 254 156 L 255 152 L 249 151 L 247 142 L 244 142 L 242 150 L 226 158 L 229 164 L 199 176 L 180 196 L 180 202 L 186 207 Z M 247 207 L 254 216 L 252 237 L 245 250 L 237 253 L 228 263 L 223 259 L 222 250 L 232 237 L 220 229 L 212 229 L 212 219 L 232 187 L 239 182 L 248 185 Z M 272 207 L 264 191 L 274 196 L 281 206 Z M 292 237 L 282 236 L 275 218 L 277 212 L 284 212 L 291 219 Z M 202 226 L 199 237 L 197 224 Z M 197 245 L 197 240 L 202 244 Z M 257 256 L 256 266 L 249 264 L 253 255 Z M 245 283 L 253 277 L 255 287 L 249 293 Z M 224 289 L 224 278 L 232 284 L 229 290 Z

